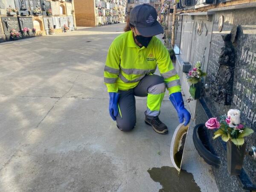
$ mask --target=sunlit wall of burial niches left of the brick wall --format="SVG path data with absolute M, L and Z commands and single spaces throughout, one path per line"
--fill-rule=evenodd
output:
M 7 8 L 16 8 L 17 12 L 6 12 Z M 49 17 L 49 25 L 55 27 L 53 33 L 63 32 L 64 24 L 69 26 L 70 31 L 74 30 L 72 10 L 71 1 L 0 0 L 0 43 L 49 34 L 48 20 L 44 17 Z M 29 28 L 31 32 L 23 33 L 24 28 Z M 20 33 L 20 37 L 11 38 L 12 29 Z

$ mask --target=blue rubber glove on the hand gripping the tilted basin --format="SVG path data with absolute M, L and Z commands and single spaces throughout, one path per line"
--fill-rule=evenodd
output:
M 187 111 L 184 107 L 184 102 L 183 102 L 181 93 L 180 92 L 172 93 L 170 95 L 169 99 L 172 102 L 172 105 L 175 107 L 175 109 L 178 113 L 180 123 L 182 123 L 183 119 L 185 118 L 184 125 L 185 126 L 188 125 L 191 115 L 190 115 L 189 111 Z

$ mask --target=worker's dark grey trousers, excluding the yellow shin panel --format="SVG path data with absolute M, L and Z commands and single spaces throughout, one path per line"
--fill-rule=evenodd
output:
M 121 131 L 131 131 L 136 124 L 136 106 L 135 97 L 146 97 L 148 93 L 164 93 L 166 90 L 166 84 L 161 76 L 147 75 L 140 80 L 140 83 L 129 90 L 119 90 L 120 96 L 118 100 L 119 113 L 116 116 L 117 127 Z M 121 114 L 120 114 L 121 113 Z M 158 116 L 157 113 L 146 111 L 146 115 Z

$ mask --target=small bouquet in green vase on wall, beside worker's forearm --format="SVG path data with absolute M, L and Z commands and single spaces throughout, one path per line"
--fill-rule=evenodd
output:
M 195 67 L 189 71 L 187 76 L 187 81 L 191 83 L 189 87 L 189 93 L 193 99 L 199 99 L 201 95 L 201 79 L 203 76 L 206 76 L 201 70 L 201 62 L 198 61 L 195 64 Z

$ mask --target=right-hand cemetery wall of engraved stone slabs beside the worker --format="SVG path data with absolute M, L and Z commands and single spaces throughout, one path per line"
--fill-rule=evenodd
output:
M 198 10 L 195 14 L 186 13 L 185 10 L 183 15 L 177 17 L 175 25 L 175 44 L 180 44 L 176 66 L 180 61 L 191 64 L 201 61 L 202 70 L 207 72 L 203 83 L 208 84 L 209 89 L 204 91 L 200 101 L 192 99 L 188 102 L 195 123 L 205 123 L 207 115 L 219 117 L 227 114 L 229 109 L 239 109 L 241 122 L 254 130 L 252 135 L 245 137 L 247 150 L 256 145 L 255 10 L 255 7 L 230 9 L 216 11 L 212 16 L 205 15 L 207 9 L 201 10 L 204 13 Z M 186 74 L 179 71 L 178 74 L 183 83 L 183 92 L 188 96 L 186 99 L 189 99 Z M 209 138 L 213 137 L 213 131 L 207 131 L 207 134 Z M 246 155 L 242 175 L 230 176 L 227 171 L 226 143 L 220 138 L 209 140 L 209 143 L 221 158 L 220 167 L 212 167 L 219 192 L 245 192 L 244 185 L 256 184 L 256 161 Z

